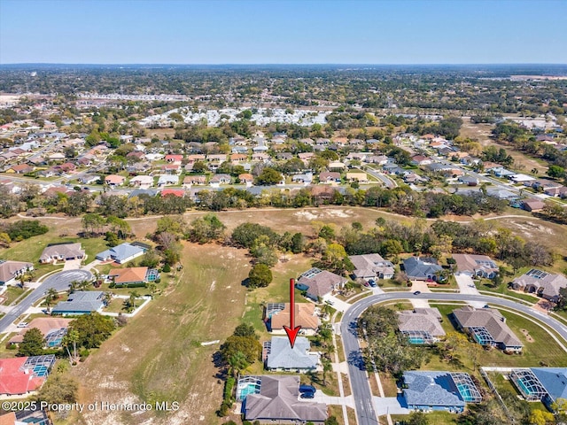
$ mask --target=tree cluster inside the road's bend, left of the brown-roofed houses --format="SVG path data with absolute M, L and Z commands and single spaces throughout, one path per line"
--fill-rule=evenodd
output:
M 399 375 L 404 370 L 421 366 L 423 350 L 412 346 L 408 337 L 398 331 L 398 315 L 391 308 L 373 305 L 358 321 L 361 337 L 367 338 L 368 346 L 362 350 L 366 365 L 371 369 Z

